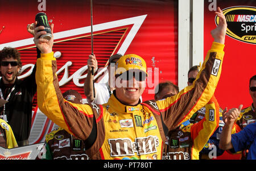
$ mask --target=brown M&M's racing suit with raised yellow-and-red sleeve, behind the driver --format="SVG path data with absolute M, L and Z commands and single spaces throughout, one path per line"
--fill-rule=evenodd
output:
M 199 152 L 218 127 L 220 107 L 213 96 L 205 105 L 204 118 L 198 123 L 183 128 L 177 127 L 168 136 L 168 145 L 164 152 L 165 160 L 199 159 Z

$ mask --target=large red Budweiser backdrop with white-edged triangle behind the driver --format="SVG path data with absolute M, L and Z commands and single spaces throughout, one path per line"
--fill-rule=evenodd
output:
M 54 24 L 53 51 L 61 54 L 57 58 L 60 89 L 75 89 L 86 98 L 83 84 L 91 53 L 90 1 L 0 1 L 0 11 L 0 49 L 19 49 L 22 77 L 36 62 L 27 24 L 35 21 L 38 12 L 47 14 L 49 23 Z M 152 74 L 143 100 L 154 98 L 152 93 L 159 81 L 170 80 L 177 85 L 177 1 L 93 1 L 93 30 L 98 68 L 103 68 L 114 53 L 135 53 L 146 60 L 149 74 L 158 72 L 155 77 Z M 53 127 L 51 120 L 35 107 L 30 143 L 44 141 Z

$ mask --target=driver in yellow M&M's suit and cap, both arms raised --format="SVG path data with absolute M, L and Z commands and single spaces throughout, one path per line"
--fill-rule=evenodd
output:
M 39 31 L 44 27 L 35 28 L 34 42 L 42 52 L 36 63 L 39 109 L 70 134 L 88 142 L 86 154 L 90 159 L 162 159 L 168 132 L 209 102 L 220 78 L 227 25 L 220 8 L 216 14 L 220 22 L 211 32 L 214 42 L 196 84 L 162 101 L 144 103 L 139 97 L 146 86 L 146 62 L 135 54 L 117 61 L 115 90 L 108 103 L 67 102 L 56 76 L 53 38 L 39 39 L 46 34 Z

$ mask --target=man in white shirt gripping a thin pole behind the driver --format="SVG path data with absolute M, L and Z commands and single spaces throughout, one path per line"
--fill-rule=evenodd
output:
M 104 83 L 94 83 L 92 75 L 92 68 L 94 68 L 94 73 L 97 71 L 97 60 L 95 55 L 89 55 L 89 59 L 87 61 L 88 65 L 88 73 L 87 77 L 85 78 L 84 83 L 84 93 L 86 95 L 86 99 L 89 103 L 95 103 L 98 105 L 102 105 L 108 102 L 110 95 L 113 93 L 114 87 L 110 86 L 110 81 L 113 80 L 114 73 L 112 72 L 111 66 L 115 65 L 115 62 L 121 57 L 121 54 L 115 54 L 110 56 L 109 63 L 108 63 L 108 82 Z M 94 84 L 94 85 L 93 85 Z M 93 90 L 94 86 L 94 90 Z M 95 93 L 95 97 L 93 94 Z

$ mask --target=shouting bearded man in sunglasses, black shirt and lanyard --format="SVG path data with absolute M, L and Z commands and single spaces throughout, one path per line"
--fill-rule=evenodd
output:
M 28 145 L 31 130 L 32 99 L 36 92 L 34 67 L 30 76 L 19 80 L 22 68 L 17 49 L 5 47 L 0 51 L 0 95 L 9 101 L 1 107 L 1 119 L 13 128 L 14 136 L 20 146 Z

